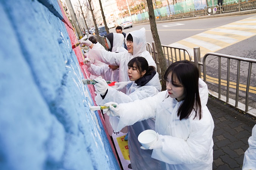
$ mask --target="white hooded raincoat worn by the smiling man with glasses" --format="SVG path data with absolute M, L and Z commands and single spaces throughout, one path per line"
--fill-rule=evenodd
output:
M 110 51 L 106 51 L 105 49 L 93 50 L 94 54 L 91 56 L 89 55 L 89 58 L 94 57 L 95 61 L 98 60 L 109 65 L 119 65 L 120 82 L 129 81 L 129 77 L 127 74 L 128 62 L 134 57 L 144 57 L 148 61 L 148 65 L 154 66 L 156 68 L 155 61 L 153 60 L 150 53 L 146 50 L 147 41 L 145 28 L 141 28 L 137 31 L 132 31 L 128 34 L 131 34 L 133 36 L 133 55 L 128 53 L 127 50 L 122 53 L 112 53 Z M 128 36 L 128 34 L 126 34 L 126 37 Z M 94 46 L 92 47 L 92 49 L 94 49 Z

